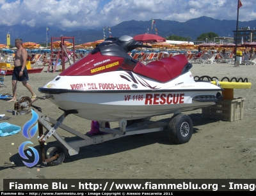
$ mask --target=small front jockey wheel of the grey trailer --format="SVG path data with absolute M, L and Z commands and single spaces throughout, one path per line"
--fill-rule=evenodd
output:
M 46 151 L 47 159 L 52 158 L 52 156 L 56 156 L 56 155 L 59 155 L 58 158 L 56 158 L 55 160 L 52 160 L 51 162 L 48 162 L 49 165 L 51 166 L 60 165 L 65 158 L 65 154 L 61 147 L 49 147 L 49 149 L 47 149 Z

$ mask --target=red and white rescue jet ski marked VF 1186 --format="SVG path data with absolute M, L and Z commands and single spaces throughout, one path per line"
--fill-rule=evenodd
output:
M 138 47 L 150 46 L 127 35 L 107 38 L 38 91 L 61 110 L 99 122 L 179 114 L 221 101 L 223 89 L 195 81 L 186 56 L 143 64 L 127 54 Z

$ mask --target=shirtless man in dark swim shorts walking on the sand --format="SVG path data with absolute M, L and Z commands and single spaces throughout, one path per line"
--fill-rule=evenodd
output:
M 34 93 L 32 87 L 28 84 L 28 70 L 26 68 L 26 60 L 28 58 L 28 52 L 22 46 L 22 39 L 15 40 L 15 46 L 17 47 L 17 51 L 15 53 L 14 59 L 14 69 L 12 73 L 12 100 L 8 100 L 7 102 L 16 102 L 16 94 L 17 94 L 17 81 L 22 82 L 23 86 L 25 86 L 29 92 L 32 94 L 31 98 L 36 98 L 36 94 Z

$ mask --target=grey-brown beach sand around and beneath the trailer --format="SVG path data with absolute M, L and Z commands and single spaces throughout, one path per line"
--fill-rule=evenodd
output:
M 44 86 L 59 72 L 29 75 L 29 84 L 37 96 L 38 87 Z M 251 89 L 234 89 L 234 98 L 245 98 L 244 116 L 242 120 L 233 122 L 220 121 L 202 117 L 202 110 L 184 112 L 193 121 L 193 135 L 186 144 L 175 145 L 170 142 L 167 133 L 154 132 L 132 135 L 120 139 L 109 140 L 97 145 L 81 147 L 79 154 L 65 156 L 61 165 L 49 166 L 38 162 L 35 167 L 26 167 L 22 163 L 18 148 L 28 140 L 19 132 L 8 137 L 0 137 L 0 190 L 3 190 L 3 179 L 253 179 L 256 176 L 256 66 L 234 64 L 193 64 L 193 76 L 208 75 L 229 79 L 247 78 L 252 83 Z M 12 76 L 6 76 L 7 87 L 0 88 L 0 94 L 12 94 Z M 31 96 L 21 82 L 18 83 L 18 98 Z M 31 114 L 13 116 L 6 110 L 12 110 L 14 102 L 0 100 L 0 113 L 12 119 L 0 121 L 20 126 L 31 119 Z M 34 105 L 42 108 L 42 113 L 54 119 L 63 112 L 49 100 L 37 100 Z M 152 117 L 156 121 L 171 117 Z M 86 133 L 90 130 L 91 121 L 81 119 L 73 114 L 66 117 L 64 124 Z M 111 122 L 111 128 L 117 122 Z M 44 130 L 45 132 L 45 130 Z M 63 130 L 57 132 L 65 139 L 72 140 L 74 135 Z M 38 133 L 36 134 L 36 136 Z M 30 146 L 40 151 L 36 136 L 31 139 Z M 77 139 L 77 138 L 76 138 Z M 51 137 L 45 148 L 61 146 Z M 63 147 L 63 146 L 61 146 Z M 13 164 L 12 164 L 13 162 Z M 38 171 L 38 169 L 40 169 Z

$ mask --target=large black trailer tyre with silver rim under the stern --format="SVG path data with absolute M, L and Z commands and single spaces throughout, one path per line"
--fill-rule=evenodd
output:
M 193 123 L 186 114 L 176 114 L 167 127 L 168 137 L 175 144 L 189 142 L 193 133 Z

